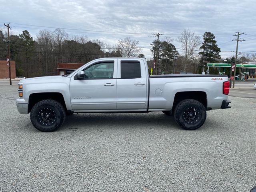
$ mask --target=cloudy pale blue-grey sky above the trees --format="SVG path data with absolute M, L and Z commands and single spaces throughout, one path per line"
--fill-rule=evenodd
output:
M 70 37 L 84 35 L 106 44 L 130 36 L 139 41 L 142 53 L 150 56 L 152 33 L 160 40 L 177 42 L 184 29 L 200 36 L 215 35 L 223 59 L 235 55 L 236 32 L 240 36 L 238 54 L 256 53 L 256 1 L 254 0 L 0 0 L 0 29 L 10 23 L 11 33 L 28 30 L 36 39 L 39 30 L 64 29 Z

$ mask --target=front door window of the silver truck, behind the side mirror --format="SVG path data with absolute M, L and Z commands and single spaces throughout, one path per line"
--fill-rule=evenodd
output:
M 84 70 L 89 79 L 110 79 L 113 78 L 114 62 L 94 64 Z

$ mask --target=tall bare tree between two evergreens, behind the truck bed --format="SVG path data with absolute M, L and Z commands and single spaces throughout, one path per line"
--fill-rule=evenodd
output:
M 200 37 L 196 35 L 193 31 L 190 31 L 189 29 L 184 29 L 181 32 L 181 36 L 178 37 L 178 42 L 180 42 L 182 46 L 182 52 L 184 54 L 184 58 L 182 60 L 183 70 L 186 71 L 187 63 L 191 61 L 190 57 L 199 48 Z

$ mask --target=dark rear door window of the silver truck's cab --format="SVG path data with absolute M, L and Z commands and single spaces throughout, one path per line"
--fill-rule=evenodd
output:
M 121 61 L 121 78 L 140 78 L 140 62 Z

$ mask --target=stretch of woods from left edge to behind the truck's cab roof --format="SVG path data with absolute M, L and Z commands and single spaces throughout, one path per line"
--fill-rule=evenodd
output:
M 0 30 L 0 38 L 4 34 Z M 138 41 L 130 37 L 118 40 L 116 45 L 89 40 L 86 36 L 72 36 L 61 29 L 40 30 L 36 40 L 27 30 L 20 35 L 10 35 L 9 42 L 0 42 L 0 59 L 8 56 L 16 62 L 16 76 L 49 76 L 57 74 L 57 63 L 87 63 L 97 57 L 141 56 Z

